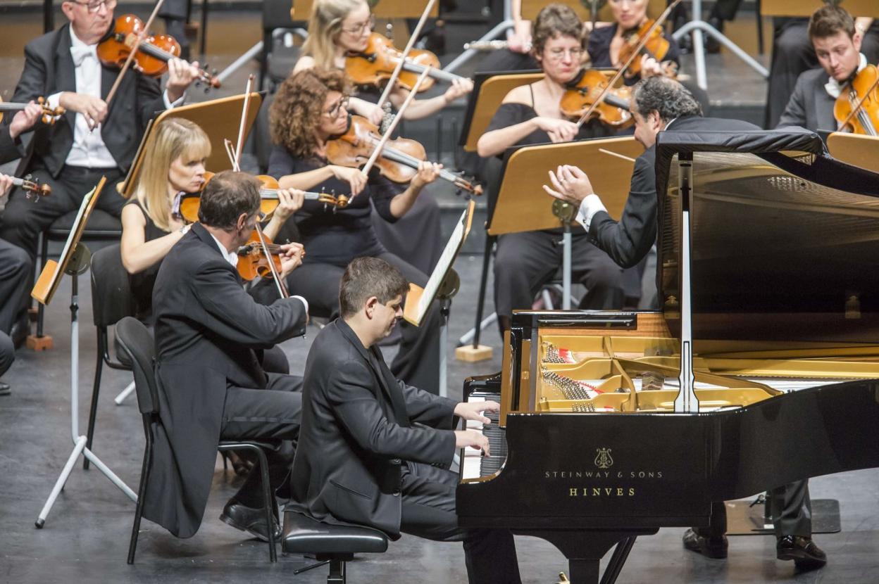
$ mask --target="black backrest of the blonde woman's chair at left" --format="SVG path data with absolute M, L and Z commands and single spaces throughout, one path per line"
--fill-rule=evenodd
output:
M 91 313 L 98 328 L 134 316 L 134 298 L 118 243 L 91 256 Z

